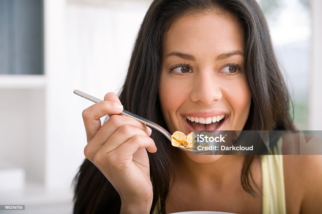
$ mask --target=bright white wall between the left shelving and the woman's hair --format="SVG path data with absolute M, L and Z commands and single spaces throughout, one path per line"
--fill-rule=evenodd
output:
M 84 159 L 81 112 L 123 84 L 148 1 L 45 1 L 46 187 L 69 188 Z

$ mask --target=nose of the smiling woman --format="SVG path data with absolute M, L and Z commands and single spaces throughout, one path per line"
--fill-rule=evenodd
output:
M 220 78 L 213 71 L 201 72 L 196 77 L 190 99 L 204 105 L 210 105 L 223 98 Z

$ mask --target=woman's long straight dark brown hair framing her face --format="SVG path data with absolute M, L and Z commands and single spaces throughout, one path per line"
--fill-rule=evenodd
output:
M 269 28 L 255 0 L 153 1 L 139 30 L 119 96 L 124 108 L 166 127 L 158 96 L 164 34 L 177 17 L 213 8 L 233 14 L 243 28 L 245 75 L 252 94 L 244 130 L 294 130 L 289 92 L 272 48 Z M 151 137 L 158 148 L 156 153 L 148 153 L 153 183 L 151 213 L 158 203 L 159 212 L 165 213 L 170 160 L 176 150 L 165 143 L 167 139 L 159 132 L 152 132 Z M 251 165 L 256 157 L 246 155 L 241 172 L 242 187 L 251 194 L 254 194 Z M 119 213 L 121 201 L 117 191 L 89 160 L 84 160 L 74 184 L 74 214 Z

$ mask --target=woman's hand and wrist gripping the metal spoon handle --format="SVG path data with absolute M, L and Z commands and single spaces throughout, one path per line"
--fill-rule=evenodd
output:
M 84 154 L 111 182 L 122 200 L 121 213 L 149 213 L 153 191 L 149 158 L 156 145 L 151 129 L 128 116 L 118 115 L 123 106 L 114 93 L 86 108 L 83 120 L 87 135 Z M 109 115 L 101 126 L 100 117 Z

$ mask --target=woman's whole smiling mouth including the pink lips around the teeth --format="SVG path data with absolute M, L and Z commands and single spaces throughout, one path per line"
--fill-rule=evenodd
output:
M 204 115 L 183 115 L 183 120 L 189 133 L 192 131 L 202 130 L 221 130 L 228 118 L 229 115 L 224 113 L 218 113 L 216 115 L 211 115 L 210 113 L 206 113 Z

